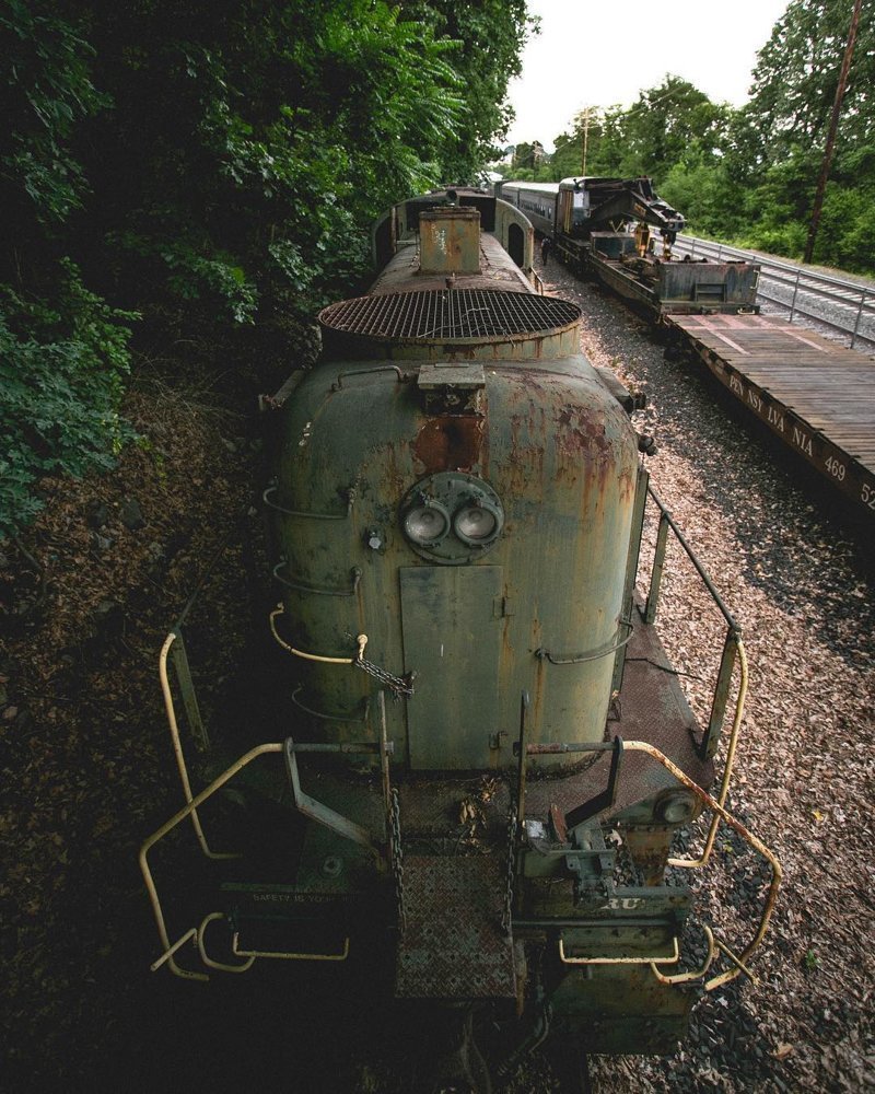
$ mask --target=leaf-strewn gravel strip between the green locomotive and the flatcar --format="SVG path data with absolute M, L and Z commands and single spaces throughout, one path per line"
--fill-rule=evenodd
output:
M 674 1057 L 596 1058 L 593 1087 L 873 1089 L 875 527 L 845 525 L 810 472 L 758 432 L 703 365 L 666 360 L 620 302 L 555 261 L 540 272 L 545 291 L 581 305 L 592 363 L 646 394 L 637 421 L 658 446 L 652 485 L 742 626 L 749 691 L 728 805 L 784 870 L 757 982 L 703 999 Z M 712 678 L 720 624 L 679 551 L 667 572 L 666 645 L 693 677 Z M 681 679 L 707 713 L 707 680 Z M 728 923 L 745 939 L 763 878 L 733 861 L 738 851 L 722 829 L 715 858 L 727 872 L 708 868 L 705 904 L 715 929 Z

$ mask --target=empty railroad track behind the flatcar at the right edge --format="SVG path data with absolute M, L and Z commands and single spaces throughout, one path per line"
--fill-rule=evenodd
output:
M 679 235 L 674 249 L 677 255 L 693 258 L 756 261 L 760 266 L 760 301 L 773 305 L 780 314 L 786 313 L 791 323 L 804 318 L 847 337 L 851 348 L 864 352 L 875 348 L 875 286 L 828 277 L 690 235 Z

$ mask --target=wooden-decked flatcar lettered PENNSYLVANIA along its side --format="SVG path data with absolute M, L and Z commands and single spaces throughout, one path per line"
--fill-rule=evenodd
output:
M 875 358 L 766 315 L 667 315 L 773 433 L 875 516 Z

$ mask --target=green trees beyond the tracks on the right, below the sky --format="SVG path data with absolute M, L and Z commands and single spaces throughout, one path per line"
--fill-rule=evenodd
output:
M 749 102 L 714 104 L 674 75 L 630 109 L 581 113 L 549 162 L 517 149 L 516 177 L 650 175 L 691 231 L 800 258 L 853 0 L 790 0 L 758 54 Z M 875 271 L 875 0 L 863 0 L 814 261 Z M 522 167 L 522 170 L 518 170 Z M 526 170 L 528 168 L 528 170 Z

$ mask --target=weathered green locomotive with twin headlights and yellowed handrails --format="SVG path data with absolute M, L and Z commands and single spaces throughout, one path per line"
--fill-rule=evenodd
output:
M 548 1027 L 582 1051 L 672 1051 L 696 999 L 747 968 L 780 878 L 725 810 L 728 768 L 714 771 L 724 721 L 730 752 L 740 721 L 740 633 L 727 614 L 699 725 L 656 635 L 656 589 L 637 585 L 654 502 L 634 398 L 581 353 L 578 306 L 533 291 L 520 210 L 424 195 L 373 241 L 371 291 L 322 311 L 319 362 L 264 400 L 264 628 L 290 717 L 250 725 L 238 753 L 208 743 L 184 626 L 162 651 L 183 802 L 140 856 L 155 967 L 275 962 L 293 982 L 365 955 L 371 989 L 402 1006 L 486 1009 L 505 1063 Z M 260 804 L 215 848 L 228 789 Z M 772 881 L 747 940 L 704 927 L 689 968 L 678 875 L 695 863 L 673 839 L 701 813 L 711 843 L 730 825 Z M 221 884 L 178 923 L 152 852 L 189 825 Z

